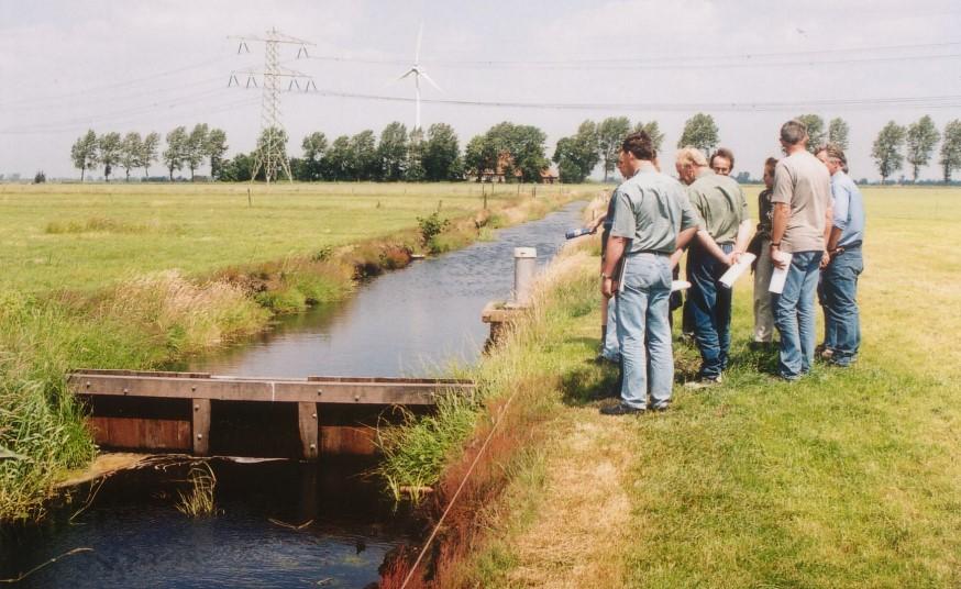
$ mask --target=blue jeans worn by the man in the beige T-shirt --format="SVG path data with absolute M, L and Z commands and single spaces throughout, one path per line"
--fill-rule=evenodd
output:
M 784 290 L 774 296 L 774 324 L 781 333 L 777 373 L 795 380 L 810 371 L 815 344 L 815 292 L 821 252 L 795 252 Z

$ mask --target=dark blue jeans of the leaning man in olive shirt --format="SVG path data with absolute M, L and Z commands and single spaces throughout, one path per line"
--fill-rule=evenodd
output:
M 730 254 L 732 244 L 720 246 Z M 700 349 L 702 378 L 717 378 L 728 365 L 731 347 L 731 289 L 719 280 L 728 266 L 699 245 L 691 248 L 687 258 L 688 291 L 694 314 L 694 338 Z

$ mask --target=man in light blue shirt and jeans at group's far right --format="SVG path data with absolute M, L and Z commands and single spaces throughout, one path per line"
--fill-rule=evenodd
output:
M 850 366 L 861 345 L 858 312 L 858 276 L 864 269 L 864 199 L 848 176 L 844 152 L 833 144 L 817 153 L 831 174 L 833 227 L 821 263 L 825 311 L 825 349 L 821 357 L 836 366 Z

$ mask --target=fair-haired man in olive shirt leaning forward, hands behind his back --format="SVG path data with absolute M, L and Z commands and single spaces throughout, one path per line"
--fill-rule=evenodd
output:
M 732 291 L 720 284 L 720 278 L 744 253 L 752 226 L 741 187 L 730 176 L 715 174 L 699 149 L 681 149 L 675 165 L 681 181 L 687 185 L 692 207 L 716 244 L 709 249 L 694 242 L 687 254 L 688 300 L 702 359 L 697 381 L 688 385 L 703 387 L 720 382 L 727 368 Z

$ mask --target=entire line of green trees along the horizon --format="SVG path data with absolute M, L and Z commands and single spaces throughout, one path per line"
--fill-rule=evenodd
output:
M 833 143 L 848 149 L 850 132 L 841 118 L 827 124 L 818 114 L 802 114 L 796 118 L 808 130 L 808 148 L 814 152 L 825 143 Z M 364 130 L 353 136 L 340 135 L 329 141 L 320 131 L 312 132 L 300 143 L 302 155 L 289 159 L 290 173 L 298 181 L 452 181 L 473 177 L 477 181 L 496 176 L 502 181 L 539 181 L 551 162 L 556 164 L 563 182 L 582 182 L 600 165 L 607 180 L 617 164 L 623 137 L 631 131 L 645 131 L 658 151 L 664 142 L 658 121 L 638 121 L 633 125 L 627 116 L 609 116 L 595 122 L 585 120 L 576 133 L 557 141 L 553 156 L 546 157 L 546 134 L 533 125 L 520 125 L 508 121 L 498 123 L 485 133 L 474 136 L 463 154 L 454 129 L 446 123 L 408 131 L 400 122 L 388 124 L 379 136 L 373 130 Z M 174 173 L 187 168 L 190 179 L 205 163 L 210 166 L 212 179 L 222 181 L 247 181 L 254 173 L 258 155 L 270 137 L 286 152 L 287 134 L 279 129 L 266 129 L 251 153 L 240 153 L 224 159 L 227 134 L 220 129 L 197 124 L 188 132 L 178 126 L 166 134 L 166 148 L 159 152 L 159 135 L 141 136 L 131 132 L 121 137 L 119 133 L 97 135 L 92 130 L 74 144 L 74 166 L 80 169 L 80 179 L 87 170 L 103 167 L 109 181 L 117 166 L 126 171 L 143 168 L 148 176 L 151 164 L 163 162 L 170 180 Z M 923 167 L 931 163 L 935 147 L 941 142 L 940 165 L 946 182 L 953 170 L 961 168 L 961 120 L 947 124 L 943 133 L 935 126 L 930 116 L 902 126 L 888 122 L 879 133 L 871 155 L 881 174 L 882 184 L 887 181 L 907 162 L 912 177 L 918 179 Z M 677 147 L 693 146 L 709 154 L 720 145 L 718 125 L 710 114 L 697 113 L 684 124 Z M 286 157 L 286 153 L 284 154 Z M 257 175 L 264 178 L 264 170 Z

